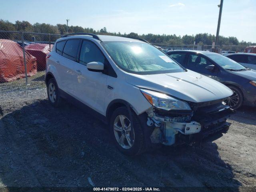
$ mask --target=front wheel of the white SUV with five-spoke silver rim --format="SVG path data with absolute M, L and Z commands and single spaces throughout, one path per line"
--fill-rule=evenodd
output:
M 144 134 L 143 128 L 140 124 L 138 116 L 132 111 L 132 117 L 129 115 L 129 111 L 126 107 L 120 107 L 114 110 L 110 119 L 110 134 L 114 141 L 114 144 L 126 155 L 138 155 L 141 154 L 144 146 Z M 124 126 L 122 126 L 121 119 L 123 120 Z M 129 127 L 130 122 L 130 129 Z M 130 132 L 128 131 L 130 130 Z M 118 142 L 118 137 L 121 139 L 123 136 L 124 142 Z M 128 138 L 130 138 L 130 144 Z

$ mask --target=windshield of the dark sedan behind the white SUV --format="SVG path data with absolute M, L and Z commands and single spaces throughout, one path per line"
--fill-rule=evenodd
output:
M 227 70 L 246 70 L 246 68 L 234 60 L 220 54 L 207 54 L 207 56 L 216 62 L 219 66 Z

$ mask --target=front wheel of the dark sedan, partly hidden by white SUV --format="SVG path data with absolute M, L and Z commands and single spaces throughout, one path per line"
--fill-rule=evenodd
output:
M 226 104 L 232 109 L 240 108 L 244 102 L 242 91 L 235 86 L 228 86 L 228 88 L 233 91 L 233 95 L 225 101 Z

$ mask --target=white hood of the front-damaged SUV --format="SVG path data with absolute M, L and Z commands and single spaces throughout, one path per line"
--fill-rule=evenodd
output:
M 140 88 L 163 92 L 190 102 L 206 102 L 229 97 L 233 92 L 224 84 L 199 73 L 187 72 L 138 75 L 127 74 L 126 82 Z

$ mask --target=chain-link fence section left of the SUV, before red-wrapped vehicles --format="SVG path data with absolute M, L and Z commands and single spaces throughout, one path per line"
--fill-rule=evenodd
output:
M 46 55 L 58 34 L 0 31 L 1 98 L 12 94 L 45 92 Z

